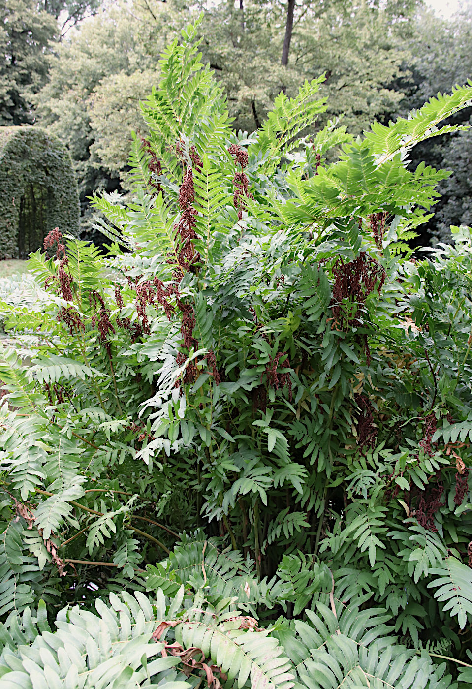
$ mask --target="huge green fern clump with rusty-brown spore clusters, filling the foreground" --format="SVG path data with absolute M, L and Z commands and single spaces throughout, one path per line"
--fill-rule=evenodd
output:
M 236 136 L 197 33 L 108 258 L 54 231 L 3 287 L 0 688 L 467 686 L 472 234 L 406 241 L 471 85 L 354 140 L 303 136 L 315 79 Z

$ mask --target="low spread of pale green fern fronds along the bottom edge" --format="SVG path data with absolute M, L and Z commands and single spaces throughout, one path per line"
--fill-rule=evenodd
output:
M 231 574 L 225 583 L 232 586 Z M 94 613 L 61 610 L 52 627 L 40 601 L 3 627 L 0 687 L 187 689 L 203 678 L 252 689 L 451 686 L 444 664 L 388 635 L 382 611 L 336 606 L 329 597 L 331 608 L 318 602 L 305 622 L 279 618 L 265 628 L 240 614 L 236 598 L 214 606 L 203 588 L 189 595 L 183 585 L 170 598 L 162 588 L 151 599 L 111 593 Z

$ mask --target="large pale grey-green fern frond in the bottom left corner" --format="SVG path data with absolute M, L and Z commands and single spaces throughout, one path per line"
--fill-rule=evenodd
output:
M 112 593 L 110 606 L 96 601 L 95 614 L 79 607 L 63 610 L 54 633 L 44 629 L 39 613 L 34 617 L 25 611 L 19 627 L 25 638 L 17 649 L 9 644 L 3 651 L 0 687 L 118 689 L 150 686 L 152 681 L 162 689 L 190 689 L 192 685 L 176 669 L 179 659 L 163 657 L 164 645 L 152 639 L 155 617 L 165 617 L 160 591 L 155 606 L 154 610 L 140 593 L 136 597 Z

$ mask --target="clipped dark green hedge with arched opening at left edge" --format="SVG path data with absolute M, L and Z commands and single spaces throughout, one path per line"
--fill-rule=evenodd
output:
M 0 127 L 0 259 L 26 258 L 50 229 L 78 235 L 70 155 L 39 127 Z

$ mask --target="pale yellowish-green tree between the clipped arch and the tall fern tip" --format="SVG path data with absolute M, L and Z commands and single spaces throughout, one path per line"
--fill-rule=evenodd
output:
M 50 58 L 50 81 L 37 96 L 37 115 L 68 145 L 85 226 L 87 196 L 121 185 L 131 131 L 143 128 L 138 101 L 158 81 L 167 16 L 164 12 L 163 22 L 150 32 L 138 13 L 103 10 L 57 45 Z

